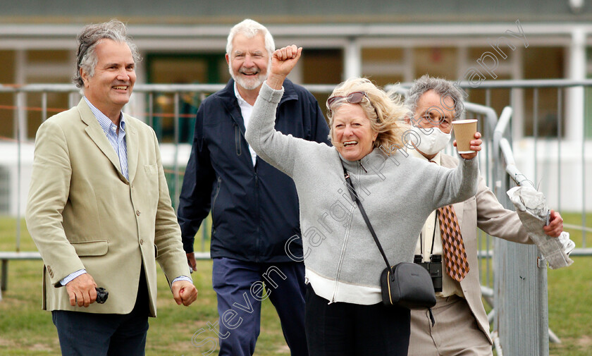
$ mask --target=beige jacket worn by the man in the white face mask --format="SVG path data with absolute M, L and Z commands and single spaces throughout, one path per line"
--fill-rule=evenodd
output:
M 448 154 L 442 154 L 440 164 L 455 168 L 458 160 Z M 493 192 L 487 187 L 485 179 L 479 176 L 477 194 L 469 200 L 453 204 L 460 224 L 464 248 L 469 259 L 469 274 L 460 282 L 462 292 L 471 312 L 475 316 L 481 331 L 489 336 L 487 314 L 481 302 L 481 286 L 479 283 L 479 264 L 477 260 L 477 228 L 489 235 L 513 241 L 515 243 L 531 243 L 526 229 L 522 226 L 515 211 L 505 209 Z

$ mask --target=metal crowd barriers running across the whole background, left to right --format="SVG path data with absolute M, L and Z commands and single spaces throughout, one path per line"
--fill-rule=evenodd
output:
M 304 85 L 308 90 L 317 95 L 317 97 L 325 97 L 333 90 L 334 85 Z M 405 92 L 405 87 L 408 87 L 408 83 L 403 83 L 397 89 L 398 92 Z M 208 93 L 220 90 L 223 85 L 135 85 L 134 94 L 130 104 L 126 106 L 124 111 L 130 113 L 132 116 L 143 119 L 149 125 L 156 126 L 155 118 L 160 116 L 167 116 L 173 123 L 173 137 L 170 140 L 174 147 L 173 153 L 173 167 L 172 167 L 172 188 L 171 195 L 173 196 L 173 202 L 176 206 L 178 202 L 179 194 L 179 178 L 182 174 L 180 171 L 180 118 L 187 117 L 182 113 L 180 108 L 181 97 L 183 94 L 192 94 L 194 97 L 203 99 Z M 569 99 L 571 94 L 570 90 L 576 88 L 576 90 L 584 91 L 584 88 L 589 89 L 592 87 L 592 80 L 493 80 L 483 81 L 478 87 L 471 87 L 466 82 L 461 82 L 460 87 L 467 90 L 472 96 L 475 93 L 481 92 L 484 97 L 483 104 L 475 104 L 466 102 L 464 108 L 466 109 L 467 118 L 479 118 L 479 130 L 483 133 L 483 152 L 479 155 L 481 162 L 482 173 L 486 177 L 488 186 L 492 188 L 495 194 L 498 196 L 498 200 L 502 202 L 506 207 L 510 207 L 511 204 L 505 192 L 512 187 L 512 185 L 529 184 L 534 182 L 535 185 L 538 183 L 539 171 L 541 167 L 538 167 L 538 161 L 536 155 L 534 156 L 534 177 L 533 180 L 526 180 L 521 171 L 518 168 L 518 164 L 514 161 L 515 147 L 514 139 L 521 137 L 519 133 L 512 133 L 512 109 L 514 106 L 517 109 L 524 109 L 524 97 L 526 96 L 525 90 L 532 92 L 532 116 L 533 116 L 533 128 L 532 138 L 534 141 L 534 152 L 536 154 L 537 147 L 543 147 L 541 140 L 546 143 L 550 140 L 557 141 L 557 210 L 561 209 L 561 195 L 562 195 L 562 176 L 561 168 L 565 166 L 562 161 L 562 147 L 567 145 L 569 142 L 565 142 L 563 132 L 563 118 L 565 117 L 564 108 L 568 108 L 569 105 L 565 104 L 564 96 Z M 555 137 L 539 137 L 538 131 L 538 111 L 540 102 L 540 93 L 544 88 L 553 88 L 556 90 L 557 110 L 555 112 L 557 121 L 557 135 Z M 387 90 L 393 89 L 393 87 L 386 87 Z M 396 88 L 395 88 L 396 89 Z M 507 109 L 501 111 L 500 118 L 492 108 L 494 102 L 499 102 L 500 97 L 505 94 L 500 94 L 500 91 L 509 90 L 507 94 L 507 100 L 503 106 L 509 106 Z M 20 191 L 20 177 L 21 177 L 21 164 L 20 164 L 20 147 L 23 142 L 30 141 L 25 133 L 27 128 L 27 111 L 25 110 L 26 95 L 38 94 L 41 98 L 41 106 L 34 108 L 39 111 L 41 121 L 45 120 L 48 116 L 51 116 L 48 112 L 50 111 L 47 107 L 49 101 L 49 95 L 55 93 L 64 93 L 68 95 L 68 107 L 74 106 L 80 99 L 78 89 L 73 85 L 22 85 L 22 86 L 6 86 L 0 85 L 0 94 L 12 93 L 14 103 L 14 114 L 13 114 L 13 140 L 16 142 L 18 147 L 18 190 Z M 586 93 L 584 91 L 584 93 Z M 581 94 L 581 93 L 580 93 Z M 157 113 L 155 107 L 157 102 L 161 99 L 161 95 L 168 95 L 172 97 L 173 109 L 172 112 L 168 113 Z M 522 99 L 520 99 L 522 97 Z M 470 97 L 469 97 L 470 99 Z M 520 99 L 520 100 L 519 100 Z M 585 102 L 585 101 L 584 101 Z M 582 104 L 584 104 L 582 102 Z M 522 103 L 522 104 L 520 104 Z M 321 103 L 321 108 L 324 109 L 324 105 Z M 0 109 L 2 109 L 0 107 Z M 66 108 L 64 108 L 66 109 Z M 517 109 L 514 109 L 514 123 L 516 121 Z M 584 108 L 573 108 L 569 107 L 570 110 L 579 110 Z M 166 114 L 166 115 L 165 115 Z M 520 114 L 520 120 L 524 121 L 526 113 Z M 1 117 L 1 111 L 0 111 Z M 585 116 L 582 115 L 582 120 L 585 120 Z M 586 131 L 586 122 L 584 121 L 581 133 L 581 150 L 579 152 L 581 156 L 581 190 L 586 192 L 586 156 L 588 156 L 586 142 L 591 137 L 588 137 L 589 133 Z M 23 134 L 25 133 L 25 134 Z M 573 137 L 572 137 L 573 139 Z M 569 152 L 572 154 L 572 152 Z M 484 168 L 484 169 L 483 169 Z M 543 167 L 544 168 L 544 167 Z M 536 187 L 538 188 L 538 187 Z M 548 189 L 549 187 L 543 187 Z M 586 248 L 586 233 L 592 232 L 591 228 L 586 226 L 586 195 L 582 194 L 581 200 L 581 225 L 569 225 L 565 224 L 566 228 L 577 229 L 581 231 L 582 243 L 581 248 L 577 248 L 572 252 L 573 255 L 590 256 L 592 255 L 592 249 Z M 17 221 L 20 221 L 20 205 L 22 202 L 18 201 L 18 212 L 16 214 Z M 20 251 L 20 224 L 16 224 L 16 251 Z M 204 250 L 204 243 L 207 239 L 206 228 L 202 228 L 202 251 Z M 484 261 L 485 268 L 480 269 L 481 283 L 483 284 L 484 295 L 486 300 L 492 306 L 495 305 L 495 313 L 491 314 L 490 317 L 494 321 L 495 332 L 498 333 L 499 339 L 496 339 L 497 345 L 502 345 L 503 351 L 509 355 L 548 355 L 548 310 L 546 300 L 546 268 L 543 268 L 540 261 L 538 251 L 534 246 L 524 245 L 506 245 L 511 244 L 500 239 L 491 239 L 486 234 L 481 234 L 479 238 L 479 257 Z M 495 248 L 492 247 L 495 246 Z M 495 253 L 493 253 L 495 250 Z M 495 264 L 493 263 L 495 259 Z M 493 269 L 495 265 L 495 269 Z M 495 281 L 493 281 L 493 275 L 495 275 Z M 515 281 L 516 276 L 530 276 L 528 283 L 524 281 Z M 493 290 L 493 295 L 489 294 L 489 291 Z M 500 290 L 504 293 L 514 292 L 514 294 L 500 295 Z M 492 299 L 493 297 L 493 299 Z M 492 302 L 493 300 L 493 302 Z M 529 315 L 537 315 L 536 321 L 532 321 L 534 318 L 522 317 L 524 313 Z M 526 324 L 524 324 L 526 322 Z M 529 324 L 530 323 L 530 324 Z M 511 331 L 519 330 L 519 333 L 512 333 Z M 501 340 L 501 342 L 500 342 Z M 500 355 L 501 349 L 498 350 Z

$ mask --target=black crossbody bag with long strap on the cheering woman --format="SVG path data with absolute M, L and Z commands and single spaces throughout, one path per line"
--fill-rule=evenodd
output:
M 354 185 L 352 185 L 350 174 L 347 173 L 345 166 L 343 166 L 343 173 L 345 174 L 347 185 L 349 185 L 352 200 L 357 203 L 359 211 L 362 213 L 364 221 L 366 221 L 366 225 L 374 238 L 374 242 L 376 243 L 376 246 L 378 246 L 378 250 L 380 250 L 384 262 L 386 263 L 386 269 L 384 269 L 381 274 L 383 304 L 387 306 L 397 305 L 407 309 L 429 309 L 436 305 L 436 295 L 434 294 L 433 283 L 430 274 L 423 266 L 411 262 L 401 262 L 395 266 L 390 266 L 382 245 L 378 241 L 374 228 L 372 228 L 368 216 L 366 215 L 366 211 L 364 211 L 364 207 L 362 207 L 362 202 L 360 202 L 357 197 L 357 192 L 354 189 Z M 433 323 L 432 316 L 431 319 Z

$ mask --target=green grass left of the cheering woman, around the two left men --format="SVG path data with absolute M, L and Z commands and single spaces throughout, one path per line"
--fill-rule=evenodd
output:
M 37 250 L 21 225 L 21 251 Z M 16 223 L 0 217 L 0 251 L 16 250 Z M 198 233 L 198 236 L 199 233 Z M 200 249 L 200 241 L 195 243 Z M 207 246 L 209 248 L 209 246 Z M 8 290 L 0 301 L 0 356 L 60 355 L 56 328 L 51 313 L 41 309 L 41 261 L 12 261 L 8 264 Z M 196 348 L 192 336 L 218 320 L 216 295 L 211 287 L 211 261 L 198 261 L 192 274 L 199 290 L 198 300 L 190 307 L 178 306 L 162 271 L 158 272 L 158 317 L 150 318 L 146 354 L 148 356 L 201 355 L 207 348 Z M 197 341 L 214 336 L 202 333 Z M 213 355 L 217 355 L 214 353 Z M 264 300 L 261 307 L 261 335 L 257 356 L 290 355 L 273 305 Z

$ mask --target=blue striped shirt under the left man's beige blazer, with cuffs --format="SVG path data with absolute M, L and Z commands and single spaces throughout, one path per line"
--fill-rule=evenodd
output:
M 84 98 L 85 102 L 90 107 L 90 110 L 92 111 L 92 113 L 94 113 L 94 116 L 99 121 L 99 125 L 101 125 L 101 128 L 103 128 L 103 131 L 107 136 L 107 140 L 109 140 L 109 143 L 111 144 L 113 149 L 115 149 L 115 152 L 119 157 L 119 166 L 121 168 L 121 173 L 123 174 L 125 179 L 130 179 L 130 177 L 128 176 L 128 145 L 126 145 L 125 143 L 125 120 L 123 119 L 123 114 L 119 114 L 119 133 L 117 133 L 117 126 L 113 123 L 113 121 L 111 121 L 111 119 L 108 118 L 104 113 L 101 113 L 99 109 L 94 107 L 94 105 L 91 104 L 86 97 Z M 66 278 L 63 278 L 60 281 L 60 284 L 62 286 L 66 286 L 68 282 L 85 273 L 87 273 L 85 269 L 75 271 L 73 274 L 70 274 L 66 276 Z M 180 280 L 190 282 L 192 281 L 191 278 L 187 276 L 180 276 L 175 278 L 173 280 L 173 283 Z

